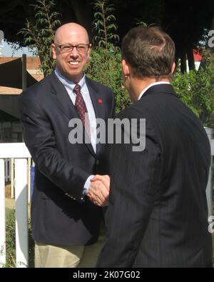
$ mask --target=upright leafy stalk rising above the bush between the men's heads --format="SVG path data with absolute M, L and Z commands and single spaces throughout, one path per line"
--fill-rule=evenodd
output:
M 112 49 L 113 44 L 119 41 L 116 34 L 118 26 L 115 24 L 116 18 L 113 16 L 115 10 L 113 4 L 108 4 L 108 0 L 95 0 L 93 2 L 94 14 L 93 29 L 96 36 L 93 37 L 93 43 L 105 49 Z

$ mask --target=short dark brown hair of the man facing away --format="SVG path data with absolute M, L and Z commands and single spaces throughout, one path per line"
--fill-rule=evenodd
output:
M 175 44 L 157 26 L 138 26 L 123 38 L 122 57 L 138 78 L 170 76 Z

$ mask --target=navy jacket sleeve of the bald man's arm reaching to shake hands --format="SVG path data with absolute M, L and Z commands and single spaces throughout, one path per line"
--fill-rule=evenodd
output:
M 36 168 L 65 193 L 81 201 L 83 186 L 89 174 L 61 156 L 51 121 L 39 101 L 30 94 L 25 92 L 19 96 L 19 111 L 24 141 Z

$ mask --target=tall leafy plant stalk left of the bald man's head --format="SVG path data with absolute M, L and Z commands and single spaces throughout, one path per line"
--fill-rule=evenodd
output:
M 34 6 L 35 23 L 26 19 L 26 27 L 19 33 L 24 36 L 24 43 L 32 49 L 36 46 L 36 56 L 41 59 L 44 76 L 51 74 L 56 62 L 51 56 L 51 43 L 54 32 L 60 26 L 59 15 L 54 11 L 54 0 L 37 0 Z

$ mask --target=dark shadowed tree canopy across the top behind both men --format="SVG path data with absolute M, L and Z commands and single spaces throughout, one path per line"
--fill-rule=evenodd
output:
M 24 27 L 25 19 L 34 21 L 34 9 L 29 4 L 33 0 L 1 0 L 0 26 L 6 39 L 23 45 L 23 36 L 17 32 Z M 91 37 L 93 12 L 91 0 L 54 0 L 62 14 L 62 24 L 76 21 L 88 30 Z M 122 39 L 126 32 L 136 25 L 136 19 L 149 24 L 158 24 L 172 36 L 175 41 L 177 58 L 185 54 L 192 57 L 192 49 L 201 40 L 205 29 L 213 29 L 214 1 L 204 0 L 200 4 L 185 0 L 113 0 L 114 15 L 118 24 L 118 35 Z M 34 3 L 33 3 L 34 4 Z M 189 59 L 189 58 L 188 58 Z M 193 61 L 193 60 L 190 60 Z

